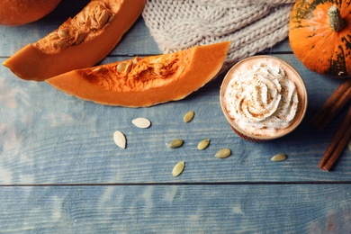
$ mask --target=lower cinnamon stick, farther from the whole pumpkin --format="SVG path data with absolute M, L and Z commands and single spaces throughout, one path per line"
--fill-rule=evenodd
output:
M 329 147 L 320 160 L 319 167 L 329 171 L 338 160 L 338 157 L 347 147 L 347 143 L 351 137 L 351 107 L 349 107 L 345 120 L 340 124 L 336 134 L 331 140 Z

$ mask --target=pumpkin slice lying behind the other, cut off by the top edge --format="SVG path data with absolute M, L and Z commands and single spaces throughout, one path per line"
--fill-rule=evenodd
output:
M 94 66 L 106 57 L 138 19 L 145 0 L 92 0 L 56 31 L 4 61 L 16 76 L 42 81 Z

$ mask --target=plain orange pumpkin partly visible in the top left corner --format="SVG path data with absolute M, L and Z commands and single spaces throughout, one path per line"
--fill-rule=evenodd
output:
M 31 23 L 52 12 L 60 0 L 1 0 L 0 24 Z

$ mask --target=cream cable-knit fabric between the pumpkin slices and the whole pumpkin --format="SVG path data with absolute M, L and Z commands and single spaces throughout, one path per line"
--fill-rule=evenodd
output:
M 231 40 L 223 69 L 288 35 L 295 0 L 148 0 L 142 16 L 164 53 Z

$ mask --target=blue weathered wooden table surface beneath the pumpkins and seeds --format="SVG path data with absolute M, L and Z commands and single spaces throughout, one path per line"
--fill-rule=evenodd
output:
M 36 23 L 0 26 L 0 61 L 83 7 L 67 2 Z M 102 63 L 158 53 L 140 17 Z M 0 232 L 350 233 L 351 152 L 331 172 L 318 168 L 346 110 L 325 130 L 310 123 L 341 80 L 303 67 L 288 40 L 263 53 L 292 64 L 309 98 L 299 128 L 265 143 L 229 128 L 220 110 L 223 76 L 184 100 L 130 109 L 85 102 L 0 67 Z M 184 123 L 188 111 L 195 117 Z M 136 128 L 137 117 L 152 126 Z M 115 145 L 115 130 L 127 148 Z M 171 139 L 184 139 L 183 147 L 167 148 Z M 198 150 L 202 139 L 210 147 Z M 220 148 L 232 155 L 214 157 Z M 278 153 L 288 158 L 271 161 Z M 185 169 L 174 177 L 179 161 Z

